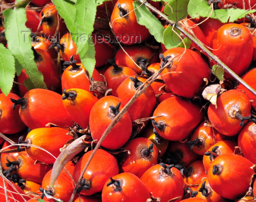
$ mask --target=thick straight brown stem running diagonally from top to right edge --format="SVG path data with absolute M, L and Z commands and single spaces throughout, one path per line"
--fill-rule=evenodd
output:
M 221 66 L 226 72 L 228 72 L 235 80 L 240 82 L 245 88 L 247 88 L 253 95 L 256 96 L 256 91 L 251 86 L 249 86 L 234 71 L 232 71 L 229 67 L 227 67 L 216 55 L 212 54 L 211 51 L 209 51 L 206 47 L 204 47 L 204 45 L 200 41 L 195 39 L 195 37 L 193 37 L 190 33 L 188 33 L 183 28 L 181 28 L 180 25 L 178 25 L 178 23 L 176 23 L 173 20 L 169 20 L 168 17 L 165 14 L 160 12 L 158 9 L 153 7 L 151 4 L 149 4 L 147 2 L 144 2 L 144 0 L 136 0 L 136 1 L 139 1 L 140 3 L 144 3 L 144 5 L 147 8 L 149 8 L 151 11 L 153 11 L 157 15 L 161 16 L 163 19 L 165 19 L 167 22 L 169 22 L 171 26 L 176 27 L 181 33 L 183 33 L 186 37 L 188 37 L 188 39 L 193 41 L 199 48 L 201 48 L 202 51 L 204 53 L 206 53 L 208 57 L 210 57 L 212 60 L 214 60 L 216 63 L 218 63 L 219 66 Z

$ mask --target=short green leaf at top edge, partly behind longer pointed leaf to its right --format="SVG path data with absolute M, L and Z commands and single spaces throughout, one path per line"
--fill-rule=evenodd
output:
M 76 7 L 74 2 L 69 0 L 53 0 L 53 3 L 59 15 L 64 19 L 69 32 L 76 33 L 76 25 L 75 25 Z

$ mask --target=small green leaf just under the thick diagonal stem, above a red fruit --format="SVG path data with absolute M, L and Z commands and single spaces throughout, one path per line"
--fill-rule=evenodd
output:
M 175 29 L 176 33 L 172 30 L 173 27 L 167 27 L 165 31 L 163 32 L 163 44 L 167 49 L 177 47 L 182 43 L 180 37 L 180 31 Z

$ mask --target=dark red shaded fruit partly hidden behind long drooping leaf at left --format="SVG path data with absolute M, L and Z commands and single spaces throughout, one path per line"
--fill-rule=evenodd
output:
M 37 69 L 44 76 L 44 82 L 48 90 L 57 91 L 60 88 L 60 74 L 56 68 L 54 60 L 51 58 L 49 52 L 46 52 L 42 49 L 35 48 L 37 52 L 37 59 L 34 59 L 37 64 Z M 23 69 L 20 75 L 17 77 L 17 82 L 24 84 L 24 81 L 27 80 L 29 76 L 26 74 L 25 69 Z M 25 86 L 18 85 L 19 91 L 22 95 L 28 91 Z

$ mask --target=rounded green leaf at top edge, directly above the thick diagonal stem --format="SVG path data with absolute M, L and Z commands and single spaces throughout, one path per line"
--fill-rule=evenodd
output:
M 188 2 L 189 0 L 171 0 L 163 12 L 168 15 L 169 20 L 178 22 L 188 16 Z

